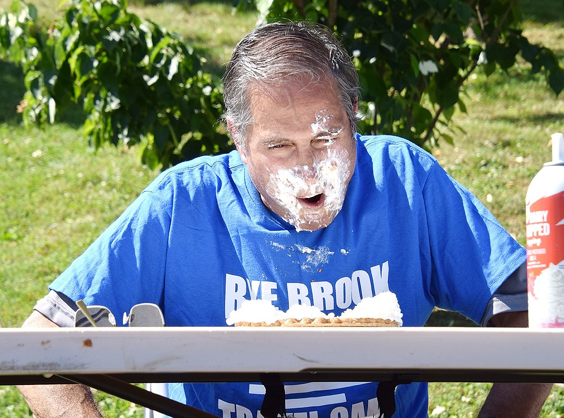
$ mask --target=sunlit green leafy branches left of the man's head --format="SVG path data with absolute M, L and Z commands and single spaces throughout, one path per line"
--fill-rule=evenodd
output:
M 49 29 L 36 8 L 12 4 L 0 21 L 0 58 L 20 64 L 25 122 L 53 123 L 82 103 L 92 146 L 140 144 L 143 164 L 167 168 L 232 148 L 219 119 L 221 80 L 174 33 L 127 12 L 126 0 L 72 0 Z

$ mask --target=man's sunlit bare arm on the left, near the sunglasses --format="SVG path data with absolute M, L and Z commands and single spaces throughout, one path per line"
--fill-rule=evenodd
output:
M 58 327 L 33 311 L 22 327 Z M 90 388 L 82 385 L 26 385 L 17 387 L 37 418 L 102 418 Z

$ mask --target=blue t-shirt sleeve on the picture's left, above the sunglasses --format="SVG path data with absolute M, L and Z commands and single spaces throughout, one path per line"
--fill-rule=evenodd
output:
M 137 303 L 162 306 L 170 222 L 160 200 L 143 192 L 51 283 L 50 290 L 72 302 L 82 299 L 86 305 L 106 306 L 117 316 Z M 59 304 L 54 306 L 60 309 Z

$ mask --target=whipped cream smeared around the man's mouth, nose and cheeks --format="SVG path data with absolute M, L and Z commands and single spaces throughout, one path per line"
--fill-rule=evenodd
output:
M 324 217 L 332 220 L 341 210 L 351 174 L 346 157 L 346 151 L 328 148 L 327 156 L 312 166 L 298 165 L 270 174 L 268 194 L 285 209 L 282 217 L 297 231 L 315 229 L 308 225 L 317 225 Z M 301 201 L 320 195 L 324 200 L 319 208 L 310 208 Z

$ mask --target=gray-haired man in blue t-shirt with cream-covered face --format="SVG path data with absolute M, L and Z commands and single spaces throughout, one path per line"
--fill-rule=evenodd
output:
M 24 326 L 72 325 L 78 299 L 117 316 L 154 302 L 169 326 L 225 326 L 245 299 L 338 315 L 386 290 L 404 326 L 424 325 L 435 306 L 482 325 L 527 325 L 525 250 L 431 155 L 400 138 L 355 134 L 358 81 L 332 34 L 255 29 L 227 65 L 224 100 L 237 151 L 162 173 Z M 378 416 L 376 385 L 287 390 L 287 411 Z M 169 396 L 258 418 L 262 395 L 251 387 L 171 384 Z M 81 386 L 21 390 L 37 416 L 99 416 Z M 538 416 L 549 391 L 494 385 L 480 416 Z M 396 417 L 427 416 L 426 384 L 399 385 L 395 402 Z

